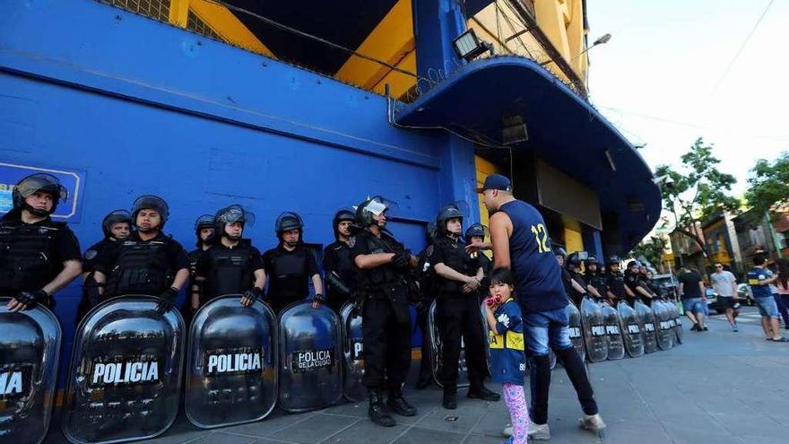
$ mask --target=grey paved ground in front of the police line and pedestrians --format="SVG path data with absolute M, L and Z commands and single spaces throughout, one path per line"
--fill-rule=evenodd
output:
M 608 423 L 603 440 L 577 427 L 580 407 L 563 370 L 553 372 L 551 442 L 608 443 L 784 443 L 789 439 L 789 345 L 764 341 L 759 314 L 743 308 L 741 331 L 713 316 L 709 331 L 687 331 L 685 344 L 638 359 L 591 364 L 595 394 Z M 412 367 L 415 373 L 416 362 Z M 412 375 L 413 376 L 413 375 Z M 500 387 L 492 387 L 499 388 Z M 367 419 L 367 404 L 335 405 L 309 414 L 276 410 L 262 422 L 201 431 L 183 414 L 165 435 L 150 443 L 499 443 L 507 419 L 503 402 L 459 396 L 455 411 L 440 406 L 438 387 L 409 389 L 420 410 L 397 417 L 383 429 Z M 63 442 L 56 427 L 48 443 Z

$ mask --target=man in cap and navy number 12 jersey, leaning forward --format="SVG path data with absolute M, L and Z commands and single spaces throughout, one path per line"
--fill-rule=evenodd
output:
M 532 394 L 530 440 L 550 440 L 548 392 L 551 386 L 549 346 L 564 363 L 584 409 L 580 420 L 586 430 L 601 432 L 605 422 L 597 410 L 584 362 L 569 339 L 568 297 L 561 281 L 561 268 L 553 255 L 548 228 L 542 215 L 512 195 L 508 178 L 492 174 L 477 190 L 490 213 L 492 245 L 473 243 L 470 249 L 493 248 L 495 267 L 506 267 L 515 277 L 515 292 L 524 315 L 526 349 L 536 369 Z

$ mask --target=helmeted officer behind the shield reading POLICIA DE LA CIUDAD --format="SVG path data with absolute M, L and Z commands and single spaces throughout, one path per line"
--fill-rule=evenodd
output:
M 277 315 L 291 302 L 309 295 L 309 280 L 315 287 L 314 307 L 323 301 L 323 283 L 318 274 L 317 260 L 304 245 L 304 222 L 301 216 L 285 212 L 274 222 L 279 244 L 263 254 L 263 267 L 268 275 L 269 305 Z

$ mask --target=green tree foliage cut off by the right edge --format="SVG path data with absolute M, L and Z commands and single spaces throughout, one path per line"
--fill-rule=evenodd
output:
M 750 171 L 750 189 L 745 192 L 745 198 L 751 208 L 764 214 L 773 205 L 789 204 L 789 152 L 773 163 L 759 159 Z

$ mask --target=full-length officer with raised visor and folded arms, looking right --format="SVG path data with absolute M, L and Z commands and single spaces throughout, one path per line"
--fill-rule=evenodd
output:
M 395 414 L 414 416 L 416 408 L 403 398 L 403 383 L 411 365 L 409 283 L 416 257 L 386 231 L 386 212 L 395 204 L 375 196 L 356 210 L 360 231 L 351 239 L 351 258 L 358 268 L 357 292 L 364 335 L 364 379 L 369 392 L 368 416 L 391 427 Z M 383 389 L 389 397 L 384 406 Z

